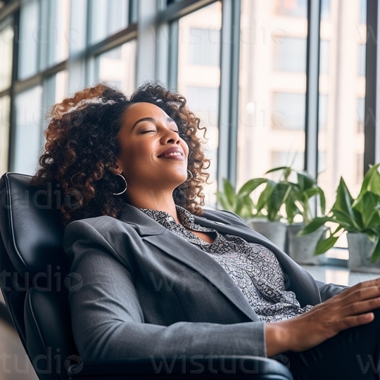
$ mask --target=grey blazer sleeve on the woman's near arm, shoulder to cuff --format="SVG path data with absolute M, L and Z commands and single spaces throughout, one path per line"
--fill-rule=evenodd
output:
M 82 360 L 183 354 L 267 356 L 262 321 L 144 323 L 133 265 L 88 222 L 68 224 L 64 248 L 72 260 L 70 277 L 76 280 L 70 284 L 68 303 Z

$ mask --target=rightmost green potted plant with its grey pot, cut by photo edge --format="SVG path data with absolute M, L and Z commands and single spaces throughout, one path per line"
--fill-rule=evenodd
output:
M 379 164 L 369 167 L 357 198 L 351 196 L 343 178 L 336 190 L 336 201 L 324 217 L 315 217 L 300 235 L 314 232 L 326 222 L 329 236 L 322 236 L 315 248 L 319 255 L 333 247 L 339 236 L 347 232 L 348 267 L 353 271 L 380 273 L 380 173 Z

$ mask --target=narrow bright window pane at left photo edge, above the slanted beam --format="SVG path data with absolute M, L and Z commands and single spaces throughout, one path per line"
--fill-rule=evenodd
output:
M 8 18 L 0 24 L 0 91 L 11 86 L 12 53 L 13 53 L 13 27 L 12 20 Z

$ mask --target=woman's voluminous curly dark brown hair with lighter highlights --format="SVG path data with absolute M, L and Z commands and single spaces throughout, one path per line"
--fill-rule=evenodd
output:
M 188 168 L 193 177 L 177 186 L 173 198 L 190 213 L 203 214 L 203 183 L 210 176 L 204 169 L 210 160 L 205 158 L 197 132 L 204 129 L 205 137 L 205 127 L 199 126 L 200 119 L 186 106 L 184 96 L 147 82 L 128 99 L 122 91 L 99 83 L 53 106 L 40 167 L 32 177 L 32 185 L 47 186 L 55 194 L 51 196 L 52 208 L 64 225 L 86 217 L 120 215 L 126 200 L 113 193 L 122 191 L 124 183 L 110 168 L 115 167 L 120 153 L 117 134 L 122 115 L 131 104 L 140 102 L 155 104 L 177 123 L 189 146 Z

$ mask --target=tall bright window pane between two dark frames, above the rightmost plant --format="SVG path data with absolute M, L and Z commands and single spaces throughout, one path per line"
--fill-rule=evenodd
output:
M 326 156 L 326 170 L 319 168 L 318 183 L 324 189 L 327 210 L 334 204 L 340 177 L 343 177 L 353 196 L 360 191 L 364 165 L 366 48 L 365 44 L 360 44 L 360 36 L 366 35 L 365 25 L 357 24 L 360 0 L 351 4 L 330 0 L 330 6 L 329 20 L 321 22 L 320 37 L 335 47 L 330 49 L 329 75 L 324 75 L 321 70 L 319 78 L 319 94 L 326 96 L 326 118 L 324 128 L 321 120 L 319 122 L 318 137 L 319 155 L 324 152 Z M 356 31 L 355 35 L 350 34 L 353 30 Z M 322 119 L 321 97 L 319 103 L 319 118 Z M 336 246 L 346 247 L 346 236 L 342 236 Z

